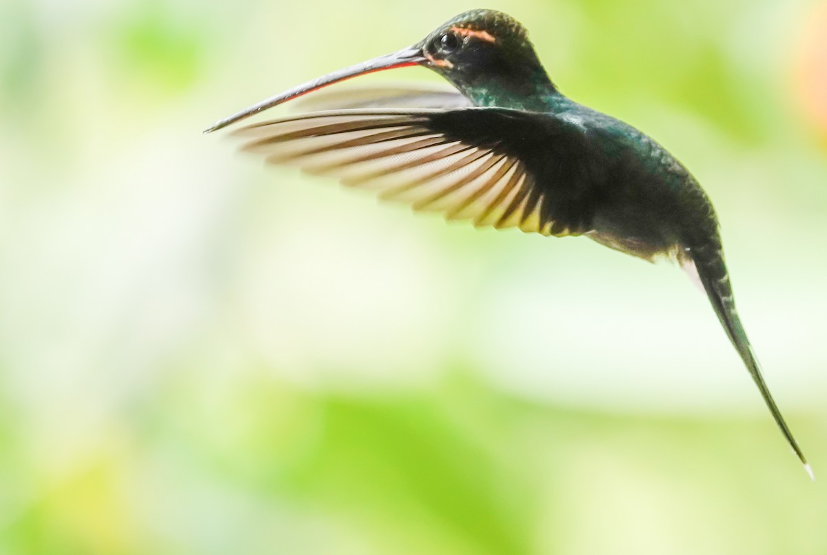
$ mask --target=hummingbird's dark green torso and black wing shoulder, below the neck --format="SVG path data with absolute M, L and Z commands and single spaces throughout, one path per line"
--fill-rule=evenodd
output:
M 439 112 L 429 127 L 524 160 L 550 235 L 586 234 L 652 260 L 716 237 L 715 214 L 695 179 L 648 136 L 577 103 L 555 112 Z M 682 255 L 681 255 L 682 256 Z

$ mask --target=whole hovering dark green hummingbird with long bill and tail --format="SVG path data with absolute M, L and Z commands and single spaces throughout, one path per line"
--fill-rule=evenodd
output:
M 561 93 L 513 17 L 461 13 L 412 46 L 267 98 L 205 132 L 357 75 L 414 65 L 432 69 L 453 89 L 333 94 L 323 109 L 256 123 L 237 135 L 246 138 L 245 150 L 270 163 L 331 175 L 447 219 L 584 236 L 646 261 L 676 261 L 705 291 L 812 478 L 735 309 L 710 199 L 651 137 Z

